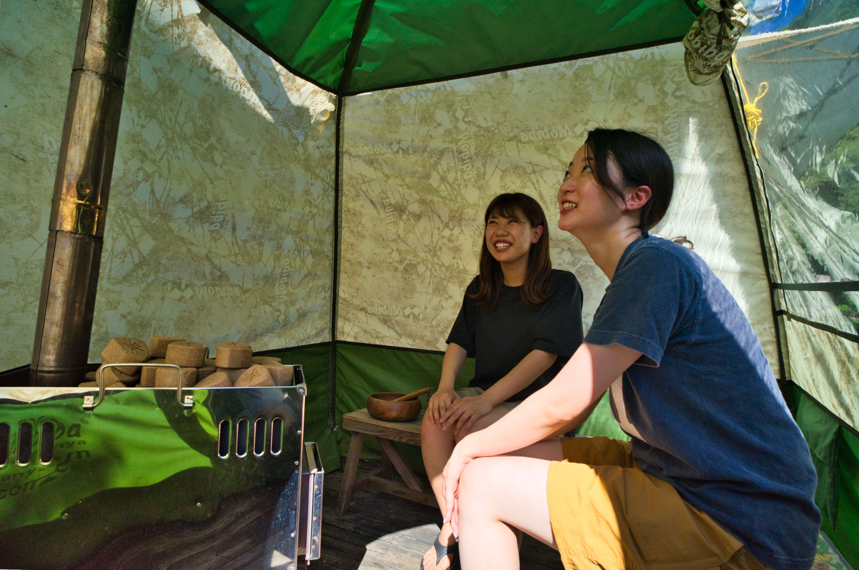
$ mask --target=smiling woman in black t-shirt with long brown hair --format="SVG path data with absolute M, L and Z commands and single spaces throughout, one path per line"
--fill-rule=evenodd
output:
M 480 275 L 466 288 L 421 428 L 423 464 L 442 512 L 442 470 L 456 442 L 548 384 L 582 343 L 582 288 L 569 271 L 551 269 L 539 203 L 518 192 L 501 194 L 484 222 Z M 456 391 L 466 356 L 475 359 L 474 378 Z M 421 567 L 445 570 L 454 549 L 446 524 Z

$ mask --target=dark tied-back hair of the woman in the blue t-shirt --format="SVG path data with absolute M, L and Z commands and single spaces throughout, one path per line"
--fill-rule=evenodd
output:
M 597 184 L 624 203 L 625 188 L 649 186 L 650 199 L 639 210 L 638 227 L 646 231 L 659 223 L 674 193 L 674 167 L 660 143 L 634 130 L 594 129 L 588 132 L 585 149 Z M 612 179 L 609 159 L 618 166 L 620 180 Z

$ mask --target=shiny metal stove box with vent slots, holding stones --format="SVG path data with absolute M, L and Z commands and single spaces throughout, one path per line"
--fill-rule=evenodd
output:
M 100 374 L 97 389 L 0 389 L 0 567 L 76 567 L 166 524 L 205 533 L 223 505 L 265 493 L 271 520 L 251 541 L 265 567 L 318 558 L 324 471 L 303 440 L 300 366 L 295 381 L 106 389 Z

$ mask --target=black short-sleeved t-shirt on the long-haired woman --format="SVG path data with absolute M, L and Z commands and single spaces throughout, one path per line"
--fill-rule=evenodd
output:
M 475 277 L 466 293 L 477 293 L 479 280 Z M 504 285 L 492 312 L 477 306 L 466 294 L 447 341 L 459 344 L 474 358 L 474 378 L 468 385 L 484 390 L 534 349 L 557 355 L 551 367 L 508 402 L 524 400 L 547 385 L 582 343 L 582 288 L 576 276 L 570 271 L 551 270 L 551 296 L 536 309 L 525 306 L 521 289 Z

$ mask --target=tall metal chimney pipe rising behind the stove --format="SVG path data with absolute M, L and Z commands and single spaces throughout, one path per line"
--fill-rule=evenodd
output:
M 82 382 L 137 0 L 83 0 L 54 182 L 30 385 Z

